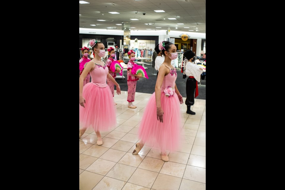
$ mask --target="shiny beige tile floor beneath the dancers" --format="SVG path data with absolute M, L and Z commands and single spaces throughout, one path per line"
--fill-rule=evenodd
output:
M 205 190 L 206 189 L 206 100 L 195 99 L 186 114 L 181 105 L 183 129 L 181 147 L 162 161 L 158 148 L 143 147 L 132 155 L 137 131 L 151 94 L 135 94 L 135 109 L 128 108 L 128 92 L 115 94 L 117 126 L 101 132 L 103 145 L 96 144 L 94 131 L 79 139 L 80 190 Z M 185 102 L 186 98 L 183 98 Z

